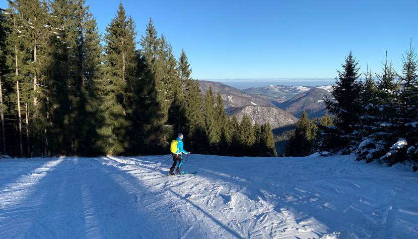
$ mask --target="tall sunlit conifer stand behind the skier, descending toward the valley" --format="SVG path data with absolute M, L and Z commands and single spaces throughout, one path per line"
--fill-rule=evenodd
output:
M 136 48 L 119 5 L 102 36 L 84 0 L 15 0 L 0 11 L 2 154 L 162 154 L 177 133 L 196 153 L 274 156 L 270 125 L 229 118 L 204 95 L 152 19 Z

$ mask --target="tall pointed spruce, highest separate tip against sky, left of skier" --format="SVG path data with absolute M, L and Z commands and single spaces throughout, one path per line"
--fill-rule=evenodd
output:
M 105 70 L 108 105 L 107 120 L 112 123 L 112 146 L 108 153 L 118 154 L 128 148 L 128 132 L 131 125 L 127 114 L 132 109 L 128 105 L 131 85 L 136 84 L 135 26 L 131 17 L 119 4 L 115 18 L 106 28 Z

